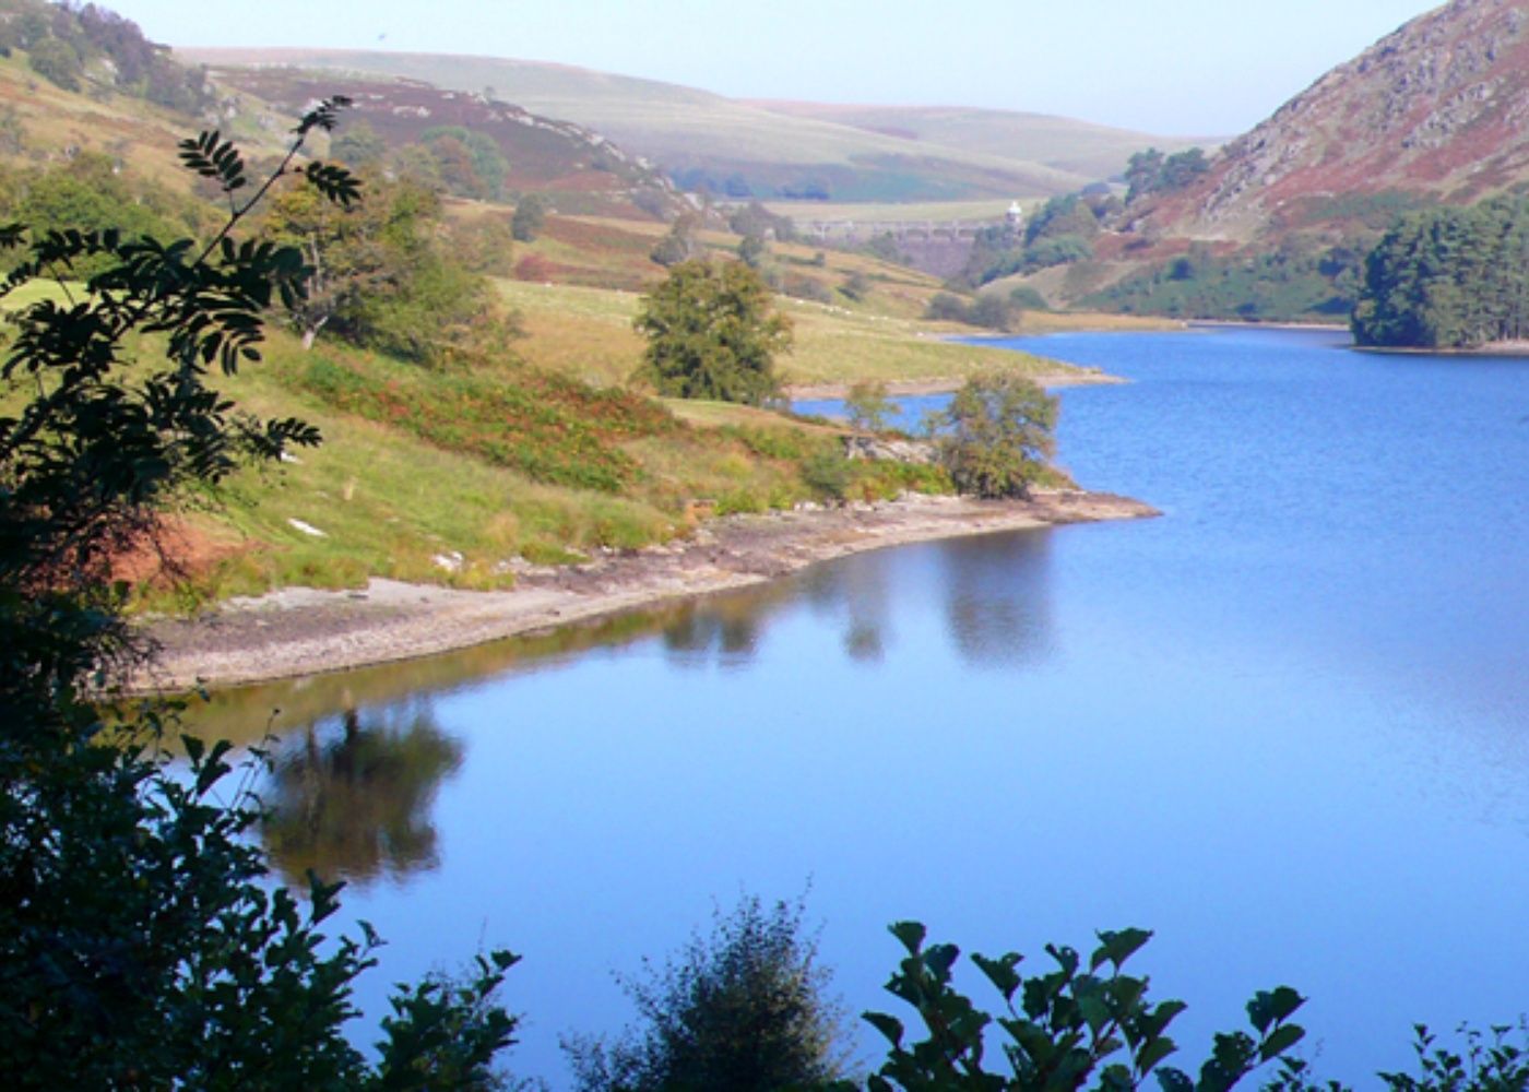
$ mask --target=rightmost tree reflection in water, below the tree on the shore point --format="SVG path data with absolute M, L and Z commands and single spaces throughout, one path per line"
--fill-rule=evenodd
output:
M 942 544 L 945 626 L 963 661 L 983 668 L 1031 668 L 1052 658 L 1050 552 L 1046 531 Z

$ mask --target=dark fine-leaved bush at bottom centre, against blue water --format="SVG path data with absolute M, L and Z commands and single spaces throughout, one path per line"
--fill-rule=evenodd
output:
M 639 1029 L 564 1042 L 579 1092 L 777 1092 L 842 1077 L 849 1029 L 801 902 L 745 898 L 661 968 L 621 986 Z

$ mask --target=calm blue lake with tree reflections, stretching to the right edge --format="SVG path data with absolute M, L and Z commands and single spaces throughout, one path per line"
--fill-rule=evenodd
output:
M 855 1012 L 905 1016 L 898 919 L 1035 970 L 1151 928 L 1136 970 L 1190 1005 L 1183 1066 L 1278 983 L 1310 996 L 1318 1075 L 1368 1086 L 1416 1022 L 1529 1008 L 1529 361 L 1240 329 L 1009 344 L 1131 381 L 1061 395 L 1060 462 L 1162 518 L 219 699 L 225 723 L 284 710 L 269 792 L 306 818 L 272 844 L 352 875 L 347 918 L 390 941 L 372 1009 L 508 945 L 511 1068 L 566 1086 L 558 1035 L 630 1017 L 613 971 L 742 893 L 804 892 Z

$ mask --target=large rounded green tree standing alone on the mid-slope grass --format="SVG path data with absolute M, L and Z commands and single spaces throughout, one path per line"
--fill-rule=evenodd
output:
M 682 262 L 642 300 L 638 379 L 673 398 L 763 405 L 780 398 L 777 353 L 792 341 L 763 277 L 742 262 Z

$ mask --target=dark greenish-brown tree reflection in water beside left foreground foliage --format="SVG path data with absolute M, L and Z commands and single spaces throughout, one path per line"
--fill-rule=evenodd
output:
M 462 757 L 428 707 L 350 708 L 309 723 L 277 749 L 263 794 L 277 869 L 289 884 L 312 869 L 364 887 L 437 867 L 430 808 Z

